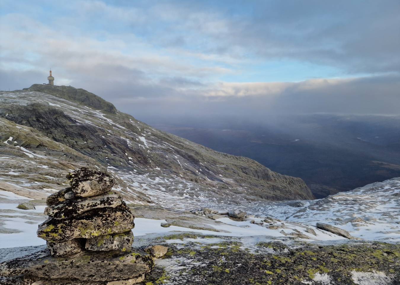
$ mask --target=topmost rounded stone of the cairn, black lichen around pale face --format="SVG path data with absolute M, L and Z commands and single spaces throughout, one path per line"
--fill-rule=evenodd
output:
M 76 197 L 84 198 L 106 194 L 115 181 L 108 174 L 82 167 L 67 174 Z

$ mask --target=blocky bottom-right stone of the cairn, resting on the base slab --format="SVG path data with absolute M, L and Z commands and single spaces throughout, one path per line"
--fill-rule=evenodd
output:
M 106 234 L 86 240 L 85 249 L 90 251 L 131 251 L 133 243 L 132 230 L 120 234 Z

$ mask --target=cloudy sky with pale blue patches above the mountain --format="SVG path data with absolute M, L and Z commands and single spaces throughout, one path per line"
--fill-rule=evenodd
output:
M 400 114 L 399 0 L 0 1 L 0 89 L 134 117 Z

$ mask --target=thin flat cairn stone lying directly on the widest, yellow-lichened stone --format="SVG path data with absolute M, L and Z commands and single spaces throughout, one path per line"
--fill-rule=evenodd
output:
M 84 199 L 68 200 L 55 206 L 48 206 L 44 214 L 50 218 L 70 218 L 88 210 L 96 208 L 115 208 L 122 204 L 122 197 L 118 195 L 104 195 Z

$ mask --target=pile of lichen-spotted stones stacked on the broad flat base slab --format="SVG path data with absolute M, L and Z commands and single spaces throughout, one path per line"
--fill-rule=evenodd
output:
M 67 175 L 71 187 L 47 198 L 38 236 L 53 257 L 90 251 L 130 251 L 134 216 L 111 191 L 114 180 L 105 173 L 80 168 Z

